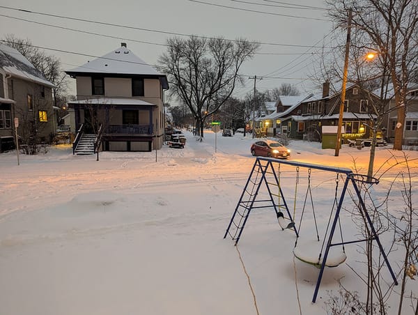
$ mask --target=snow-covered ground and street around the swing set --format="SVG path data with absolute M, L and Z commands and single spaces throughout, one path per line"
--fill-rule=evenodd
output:
M 70 146 L 20 155 L 19 166 L 15 153 L 1 154 L 0 314 L 246 315 L 257 314 L 256 307 L 265 315 L 299 314 L 299 298 L 302 313 L 315 315 L 325 314 L 338 279 L 364 292 L 350 267 L 364 274 L 366 258 L 357 245 L 347 245 L 346 263 L 325 270 L 312 304 L 318 269 L 294 260 L 295 234 L 279 229 L 274 212 L 254 210 L 238 247 L 223 239 L 254 164 L 253 139 L 217 134 L 215 152 L 212 132 L 203 142 L 185 133 L 184 149 L 104 152 L 99 162 L 95 155 L 72 155 Z M 291 141 L 288 148 L 291 160 L 356 167 L 363 174 L 369 162 L 369 148 L 343 146 L 339 157 L 314 142 Z M 412 187 L 418 187 L 418 151 L 404 153 L 415 176 Z M 394 156 L 404 158 L 389 146 L 376 155 L 375 170 L 388 159 L 393 164 Z M 402 167 L 380 178 L 376 198 Z M 378 176 L 385 169 L 387 164 Z M 323 206 L 318 222 L 326 222 L 325 206 L 333 201 L 332 185 L 322 180 L 313 192 Z M 401 186 L 392 190 L 389 210 L 400 210 Z M 417 204 L 417 194 L 413 198 Z M 344 233 L 355 237 L 350 215 L 343 220 Z M 309 222 L 304 224 L 312 230 Z M 387 234 L 384 246 L 392 236 Z M 389 254 L 396 272 L 401 257 L 401 251 Z M 417 282 L 409 281 L 408 290 L 417 293 Z M 388 303 L 394 311 L 396 296 Z M 412 312 L 408 305 L 404 310 Z

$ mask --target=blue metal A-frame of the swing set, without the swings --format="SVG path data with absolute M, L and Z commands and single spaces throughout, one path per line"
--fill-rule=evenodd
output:
M 321 171 L 329 171 L 329 172 L 333 172 L 333 173 L 336 173 L 336 174 L 345 174 L 346 175 L 346 179 L 344 181 L 343 189 L 341 190 L 341 195 L 339 197 L 338 205 L 337 205 L 336 210 L 335 210 L 334 220 L 332 220 L 332 226 L 331 226 L 331 229 L 330 229 L 330 233 L 328 234 L 328 238 L 326 240 L 325 252 L 323 254 L 323 260 L 322 260 L 322 263 L 320 263 L 320 272 L 319 272 L 319 275 L 318 275 L 318 279 L 316 281 L 314 297 L 312 298 L 313 303 L 316 302 L 320 282 L 322 280 L 323 272 L 324 272 L 324 269 L 325 269 L 325 263 L 327 261 L 328 254 L 330 252 L 330 247 L 332 247 L 332 246 L 359 243 L 359 242 L 364 242 L 364 241 L 369 240 L 369 239 L 376 240 L 376 242 L 378 243 L 380 253 L 382 254 L 382 257 L 385 260 L 386 266 L 389 269 L 390 275 L 392 276 L 392 279 L 394 280 L 394 284 L 395 285 L 398 284 L 398 281 L 396 280 L 396 276 L 394 275 L 394 271 L 392 270 L 392 267 L 390 266 L 389 260 L 387 259 L 387 255 L 385 254 L 385 250 L 383 249 L 382 244 L 380 243 L 378 233 L 376 233 L 376 229 L 373 226 L 373 222 L 371 220 L 371 217 L 369 216 L 369 213 L 366 210 L 366 205 L 365 205 L 364 200 L 362 198 L 362 195 L 360 193 L 359 187 L 357 186 L 357 182 L 368 183 L 368 184 L 373 185 L 373 184 L 377 184 L 378 180 L 376 178 L 367 178 L 367 176 L 355 174 L 355 173 L 353 173 L 353 171 L 351 171 L 351 169 L 340 168 L 340 167 L 327 167 L 327 166 L 320 165 L 320 164 L 311 164 L 311 163 L 296 162 L 296 161 L 289 161 L 289 160 L 276 160 L 276 159 L 273 159 L 271 157 L 256 157 L 254 165 L 251 169 L 251 173 L 249 174 L 249 177 L 247 179 L 247 183 L 245 184 L 244 190 L 242 190 L 240 200 L 238 201 L 238 204 L 235 207 L 234 213 L 231 217 L 231 221 L 229 222 L 228 228 L 226 229 L 224 238 L 226 238 L 226 236 L 228 235 L 228 233 L 231 229 L 231 226 L 234 223 L 235 215 L 237 215 L 240 208 L 244 208 L 245 211 L 247 211 L 247 213 L 244 217 L 244 221 L 242 222 L 242 224 L 240 226 L 236 226 L 236 228 L 239 230 L 238 236 L 236 238 L 234 238 L 232 236 L 233 240 L 235 240 L 235 245 L 238 244 L 238 241 L 240 240 L 242 231 L 244 230 L 244 226 L 245 226 L 245 224 L 247 222 L 247 219 L 249 217 L 249 213 L 254 208 L 271 208 L 271 207 L 273 207 L 274 211 L 276 212 L 277 215 L 280 212 L 280 208 L 285 208 L 286 212 L 288 214 L 288 218 L 293 222 L 293 217 L 291 215 L 291 212 L 288 209 L 286 199 L 284 198 L 284 194 L 281 190 L 281 187 L 279 186 L 279 180 L 278 180 L 277 174 L 274 171 L 273 165 L 275 163 L 287 164 L 287 165 L 292 165 L 292 166 L 295 166 L 295 167 L 304 167 L 304 168 L 307 168 L 307 169 L 318 169 L 318 170 L 321 170 Z M 258 181 L 258 183 L 252 181 L 252 176 L 254 176 L 254 172 L 257 172 L 257 174 L 261 173 L 261 178 Z M 279 194 L 280 194 L 281 199 L 284 202 L 282 205 L 277 205 L 274 202 L 275 194 L 272 194 L 272 192 L 270 190 L 269 184 L 272 184 L 272 183 L 268 183 L 267 174 L 272 174 L 272 177 L 275 180 L 275 183 L 273 183 L 273 184 L 277 185 L 277 187 L 279 187 Z M 257 200 L 258 192 L 260 191 L 260 188 L 263 185 L 263 183 L 267 187 L 270 199 Z M 343 205 L 343 200 L 344 200 L 344 197 L 346 195 L 348 183 L 353 184 L 355 193 L 357 194 L 357 197 L 359 199 L 359 211 L 361 211 L 362 215 L 364 215 L 364 217 L 366 218 L 366 223 L 369 226 L 370 231 L 371 231 L 371 238 L 366 238 L 364 240 L 351 240 L 351 241 L 348 241 L 348 242 L 341 242 L 341 243 L 332 243 L 332 238 L 334 236 L 336 225 L 338 224 L 339 214 L 341 212 L 341 207 Z M 254 194 L 249 194 L 249 192 L 248 192 L 248 187 L 251 186 L 251 184 L 254 185 L 253 187 L 256 186 L 256 190 L 255 190 Z M 245 194 L 249 194 L 249 201 L 244 201 L 243 200 L 243 198 L 245 197 Z M 256 206 L 259 203 L 262 203 L 262 205 L 261 206 Z M 293 227 L 293 230 L 295 231 L 296 236 L 298 236 L 299 233 L 298 233 L 295 226 Z

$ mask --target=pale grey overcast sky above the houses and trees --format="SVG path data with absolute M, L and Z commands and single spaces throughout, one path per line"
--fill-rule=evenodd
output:
M 174 36 L 172 33 L 246 38 L 263 45 L 255 58 L 242 67 L 247 82 L 237 89 L 236 96 L 243 98 L 252 91 L 254 79 L 249 77 L 254 75 L 263 77 L 256 82 L 261 91 L 290 83 L 301 92 L 309 92 L 314 85 L 307 77 L 320 59 L 320 46 L 337 44 L 332 43 L 333 24 L 322 0 L 285 3 L 275 0 L 0 0 L 0 37 L 13 33 L 17 38 L 29 38 L 33 45 L 45 47 L 48 54 L 58 56 L 65 70 L 107 54 L 121 42 L 127 43 L 146 63 L 155 65 L 166 49 L 167 38 Z M 75 93 L 74 81 L 72 93 Z

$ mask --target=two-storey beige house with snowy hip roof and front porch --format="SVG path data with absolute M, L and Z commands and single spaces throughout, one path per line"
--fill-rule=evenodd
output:
M 98 135 L 102 150 L 151 151 L 164 141 L 164 90 L 167 76 L 157 72 L 126 44 L 83 66 L 66 71 L 76 79 L 75 113 L 79 136 Z M 76 137 L 77 139 L 77 137 Z

